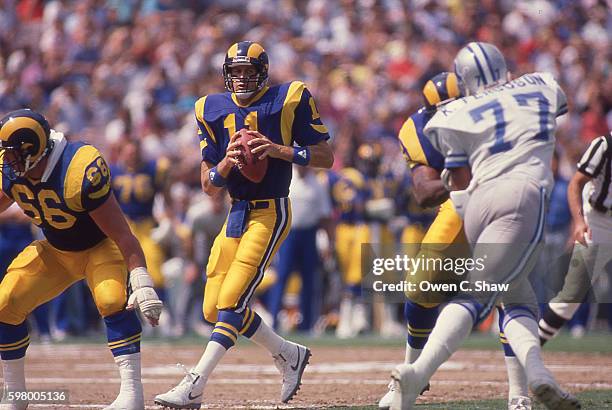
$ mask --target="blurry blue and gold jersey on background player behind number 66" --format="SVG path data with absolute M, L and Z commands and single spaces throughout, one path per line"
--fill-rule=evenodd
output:
M 169 166 L 166 158 L 145 162 L 138 169 L 111 165 L 113 191 L 121 210 L 132 221 L 153 217 L 155 194 L 164 189 Z

